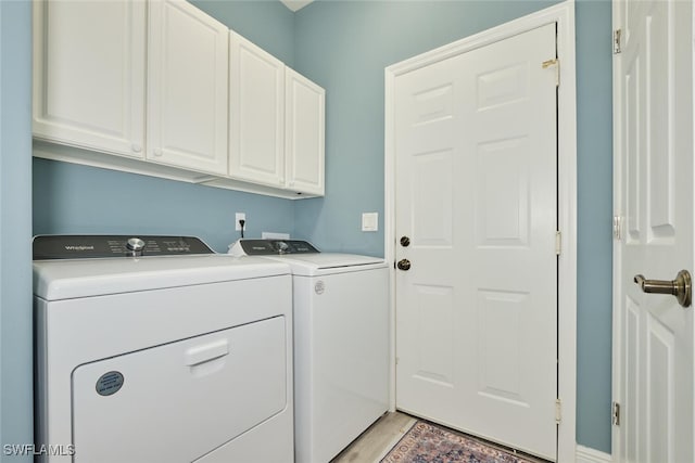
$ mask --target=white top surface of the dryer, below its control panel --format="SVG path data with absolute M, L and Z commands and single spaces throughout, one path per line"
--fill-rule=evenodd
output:
M 34 294 L 61 300 L 289 273 L 281 262 L 225 254 L 42 260 L 34 262 Z

